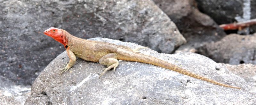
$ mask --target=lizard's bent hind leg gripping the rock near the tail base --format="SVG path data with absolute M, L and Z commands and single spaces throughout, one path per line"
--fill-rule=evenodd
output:
M 102 73 L 100 73 L 100 77 L 105 73 L 107 72 L 108 70 L 114 68 L 114 72 L 116 70 L 116 67 L 119 65 L 119 62 L 118 60 L 116 59 L 116 54 L 115 53 L 109 53 L 103 57 L 100 58 L 99 62 L 100 64 L 103 64 L 103 65 L 107 65 L 108 68 L 105 68 L 103 69 L 104 71 Z M 99 78 L 100 78 L 99 77 Z

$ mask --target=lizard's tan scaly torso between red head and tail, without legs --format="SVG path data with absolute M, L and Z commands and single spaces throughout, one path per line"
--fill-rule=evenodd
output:
M 77 57 L 86 61 L 99 62 L 101 57 L 107 55 L 108 53 L 116 54 L 118 49 L 129 52 L 128 49 L 112 43 L 85 40 L 72 35 L 67 35 L 67 40 L 69 49 Z

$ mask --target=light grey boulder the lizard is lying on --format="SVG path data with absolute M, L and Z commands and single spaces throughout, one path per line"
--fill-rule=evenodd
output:
M 140 47 L 106 38 L 92 40 L 132 49 Z M 255 87 L 205 56 L 189 52 L 159 54 L 150 49 L 139 51 L 242 89 L 218 86 L 158 66 L 127 61 L 119 61 L 115 73 L 108 71 L 99 79 L 99 73 L 105 66 L 77 58 L 76 64 L 68 72 L 59 75 L 62 64 L 69 61 L 65 51 L 36 78 L 25 105 L 255 104 Z

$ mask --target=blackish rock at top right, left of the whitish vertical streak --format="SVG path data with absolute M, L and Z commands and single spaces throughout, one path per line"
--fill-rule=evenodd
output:
M 198 9 L 209 15 L 216 23 L 227 24 L 243 16 L 244 0 L 196 0 Z

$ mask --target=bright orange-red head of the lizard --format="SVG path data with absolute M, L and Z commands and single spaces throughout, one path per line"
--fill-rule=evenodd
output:
M 66 43 L 66 35 L 63 33 L 64 30 L 61 30 L 59 28 L 51 27 L 44 31 L 45 35 L 51 36 L 56 41 L 59 41 L 65 46 Z

